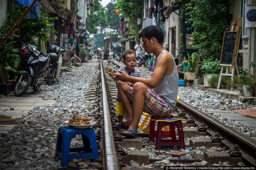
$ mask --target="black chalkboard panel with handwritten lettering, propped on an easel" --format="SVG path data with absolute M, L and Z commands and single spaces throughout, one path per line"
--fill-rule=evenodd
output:
M 220 65 L 232 65 L 236 47 L 237 31 L 224 32 Z

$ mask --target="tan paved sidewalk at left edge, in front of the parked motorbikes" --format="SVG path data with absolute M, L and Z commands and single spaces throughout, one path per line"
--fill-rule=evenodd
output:
M 45 94 L 51 94 L 52 91 L 34 92 L 28 90 L 21 97 L 14 94 L 0 98 L 0 133 L 8 133 L 17 122 L 28 115 L 28 111 L 36 106 L 54 104 L 54 100 L 43 100 L 41 97 Z M 14 107 L 13 110 L 10 108 Z M 1 137 L 0 137 L 1 138 Z

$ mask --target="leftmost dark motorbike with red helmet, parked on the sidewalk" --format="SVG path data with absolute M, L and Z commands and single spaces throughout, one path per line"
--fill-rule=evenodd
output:
M 45 79 L 45 70 L 50 60 L 50 56 L 44 54 L 34 45 L 22 42 L 20 49 L 22 53 L 21 68 L 25 74 L 19 74 L 14 88 L 15 96 L 22 96 L 30 86 L 34 91 L 38 88 Z

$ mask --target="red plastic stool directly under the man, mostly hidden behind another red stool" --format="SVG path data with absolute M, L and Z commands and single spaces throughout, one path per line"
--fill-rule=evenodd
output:
M 149 141 L 154 141 L 154 138 L 157 137 L 157 130 L 155 129 L 156 127 L 156 121 L 155 120 L 162 120 L 162 119 L 172 119 L 173 115 L 168 115 L 168 116 L 151 116 L 150 119 L 150 125 L 149 125 Z M 154 119 L 154 120 L 152 120 Z M 159 123 L 159 121 L 158 121 Z M 169 126 L 169 125 L 168 125 Z M 172 126 L 169 126 L 169 131 L 162 131 L 162 137 L 170 137 L 175 138 L 175 129 Z

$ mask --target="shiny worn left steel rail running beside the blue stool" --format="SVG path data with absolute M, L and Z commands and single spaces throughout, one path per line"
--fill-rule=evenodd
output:
M 102 101 L 103 101 L 103 120 L 104 120 L 104 156 L 106 163 L 106 170 L 118 170 L 119 163 L 116 154 L 116 149 L 114 145 L 114 136 L 112 131 L 112 124 L 110 119 L 108 98 L 104 80 L 104 72 L 102 62 L 100 61 L 100 71 L 101 71 L 101 83 L 102 83 Z

